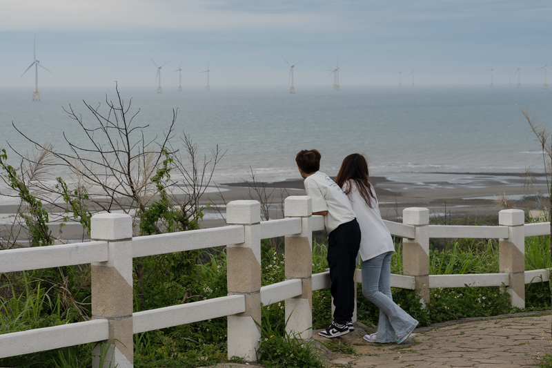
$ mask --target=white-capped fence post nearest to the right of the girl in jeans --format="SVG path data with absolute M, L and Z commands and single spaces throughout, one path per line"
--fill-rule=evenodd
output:
M 411 207 L 402 211 L 403 224 L 415 227 L 414 239 L 402 240 L 402 269 L 404 275 L 414 276 L 414 288 L 429 302 L 429 210 Z

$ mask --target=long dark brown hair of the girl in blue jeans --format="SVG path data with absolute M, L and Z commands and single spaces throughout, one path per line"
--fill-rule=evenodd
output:
M 357 191 L 359 191 L 360 196 L 366 202 L 366 205 L 372 208 L 371 197 L 375 200 L 375 195 L 372 191 L 372 184 L 368 180 L 368 162 L 366 158 L 359 153 L 353 153 L 345 157 L 339 168 L 339 173 L 335 178 L 335 184 L 343 188 L 345 194 L 349 194 L 352 191 L 352 187 L 348 184 L 344 188 L 344 184 L 349 180 L 353 180 L 356 184 Z

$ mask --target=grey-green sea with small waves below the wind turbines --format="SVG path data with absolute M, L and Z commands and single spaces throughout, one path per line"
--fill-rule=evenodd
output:
M 199 157 L 209 159 L 217 146 L 226 152 L 213 176 L 219 184 L 248 180 L 252 172 L 268 182 L 297 179 L 295 155 L 311 148 L 322 153 L 328 175 L 351 153 L 368 157 L 372 176 L 407 182 L 440 173 L 542 172 L 540 144 L 522 109 L 552 128 L 552 90 L 542 85 L 295 86 L 295 94 L 286 86 L 118 89 L 127 118 L 134 116 L 135 139 L 143 133 L 161 142 L 176 112 L 172 144 L 184 157 L 184 135 L 197 144 Z M 95 127 L 86 104 L 106 114 L 106 101 L 119 103 L 115 84 L 44 87 L 41 101 L 32 101 L 32 92 L 0 88 L 0 148 L 14 166 L 12 148 L 32 152 L 29 139 L 52 142 L 61 153 L 70 153 L 68 142 L 90 148 L 66 110 Z

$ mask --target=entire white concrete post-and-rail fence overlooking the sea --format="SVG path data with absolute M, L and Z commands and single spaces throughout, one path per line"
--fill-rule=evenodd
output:
M 324 229 L 313 216 L 311 198 L 288 197 L 283 220 L 261 222 L 256 201 L 227 206 L 227 226 L 132 238 L 128 215 L 92 217 L 92 241 L 0 251 L 0 273 L 90 263 L 92 320 L 0 335 L 0 358 L 99 342 L 93 366 L 106 351 L 106 367 L 132 367 L 134 333 L 228 316 L 228 356 L 256 360 L 261 332 L 261 303 L 285 301 L 288 329 L 312 337 L 312 292 L 330 286 L 328 272 L 312 274 L 312 234 Z M 524 224 L 520 210 L 504 210 L 500 226 L 433 226 L 428 209 L 411 208 L 403 224 L 386 222 L 391 234 L 404 239 L 405 275 L 392 275 L 391 286 L 413 289 L 428 300 L 435 287 L 509 287 L 511 302 L 524 307 L 524 285 L 549 280 L 549 270 L 524 271 L 524 238 L 549 234 L 549 222 Z M 285 236 L 286 280 L 261 287 L 261 240 Z M 499 238 L 500 273 L 429 275 L 430 238 Z M 226 246 L 228 296 L 132 313 L 132 258 Z M 542 279 L 540 278 L 542 277 Z M 357 273 L 357 282 L 359 282 Z M 293 312 L 293 313 L 292 313 Z M 110 344 L 112 342 L 112 344 Z M 103 349 L 102 349 L 103 347 Z

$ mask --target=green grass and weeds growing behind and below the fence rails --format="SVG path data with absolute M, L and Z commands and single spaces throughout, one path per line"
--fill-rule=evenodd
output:
M 281 244 L 280 244 L 281 245 Z M 273 247 L 267 241 L 262 243 L 262 285 L 284 280 L 285 255 L 282 246 Z M 313 244 L 313 273 L 324 272 L 326 246 L 321 242 Z M 402 243 L 396 244 L 392 258 L 392 272 L 402 274 Z M 170 258 L 172 257 L 172 258 Z M 168 257 L 172 263 L 171 273 L 181 273 L 179 256 Z M 187 264 L 189 278 L 171 278 L 165 276 L 156 281 L 155 291 L 158 300 L 146 298 L 142 302 L 135 296 L 135 309 L 141 304 L 148 308 L 180 302 L 182 293 L 191 289 L 190 295 L 199 295 L 195 300 L 217 298 L 226 295 L 226 253 L 211 251 L 197 258 L 199 262 Z M 430 273 L 436 275 L 465 273 L 498 272 L 497 240 L 446 240 L 432 242 L 430 252 Z M 549 236 L 526 238 L 526 269 L 544 269 L 550 267 Z M 71 306 L 63 299 L 56 286 L 54 273 L 57 270 L 2 275 L 0 284 L 0 321 L 1 333 L 23 331 L 39 327 L 48 327 L 67 322 L 82 320 L 81 313 L 89 313 L 86 307 L 90 301 L 88 279 L 83 281 L 78 270 L 66 269 L 63 280 L 66 289 L 75 294 L 75 302 L 80 309 Z M 65 276 L 67 275 L 67 276 Z M 9 279 L 6 277 L 10 277 Z M 88 276 L 87 276 L 88 277 Z M 68 279 L 68 281 L 67 281 Z M 188 281 L 181 281 L 188 280 Z M 190 281 L 191 280 L 191 281 Z M 201 280 L 201 283 L 197 283 Z M 80 283 L 79 283 L 80 282 Z M 180 283 L 175 288 L 175 282 Z M 185 284 L 196 282 L 197 284 Z M 63 285 L 65 285 L 63 284 Z M 48 287 L 45 287 L 48 285 Z M 71 285 L 77 285 L 72 287 Z M 357 300 L 357 318 L 366 324 L 377 324 L 379 310 L 362 297 L 359 284 Z M 79 291 L 73 291 L 77 288 Z M 88 289 L 87 289 L 88 288 Z M 405 311 L 428 325 L 463 317 L 491 316 L 517 311 L 509 306 L 507 296 L 499 287 L 469 287 L 457 289 L 431 289 L 431 301 L 427 308 L 420 307 L 420 298 L 411 290 L 393 289 L 393 299 Z M 528 284 L 526 286 L 526 310 L 544 310 L 550 308 L 550 290 L 548 282 Z M 285 304 L 280 302 L 262 307 L 264 342 L 261 342 L 260 357 L 266 365 L 284 367 L 308 365 L 317 367 L 315 347 L 305 345 L 296 336 L 285 331 Z M 428 311 L 430 313 L 428 313 Z M 313 292 L 313 327 L 326 327 L 332 320 L 331 296 L 328 289 Z M 271 337 L 272 336 L 272 337 Z M 173 327 L 135 335 L 135 367 L 199 367 L 228 361 L 226 358 L 226 318 L 217 318 L 190 325 Z M 309 350 L 310 349 L 310 350 Z M 344 354 L 354 354 L 354 348 L 347 345 L 335 345 L 332 350 Z M 0 366 L 40 366 L 40 367 L 86 367 L 91 363 L 91 345 L 82 345 L 58 349 L 25 357 L 12 357 L 0 360 Z M 280 354 L 282 351 L 285 354 Z M 263 355 L 264 354 L 264 355 Z M 292 356 L 293 355 L 293 356 Z M 293 358 L 293 359 L 292 359 Z M 544 358 L 543 358 L 544 359 Z M 552 360 L 552 358 L 551 358 Z M 542 360 L 544 361 L 544 360 Z

